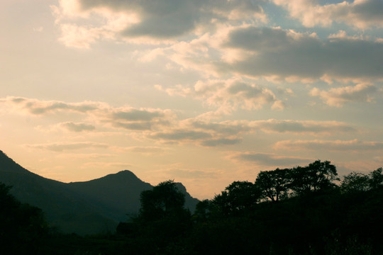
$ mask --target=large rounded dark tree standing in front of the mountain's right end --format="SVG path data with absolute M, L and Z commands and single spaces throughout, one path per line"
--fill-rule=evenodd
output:
M 191 227 L 190 211 L 184 208 L 184 194 L 174 181 L 164 181 L 143 191 L 140 195 L 141 208 L 130 229 L 137 236 L 135 245 L 145 245 L 146 253 L 140 249 L 139 254 L 166 254 L 167 246 L 177 246 L 177 242 Z

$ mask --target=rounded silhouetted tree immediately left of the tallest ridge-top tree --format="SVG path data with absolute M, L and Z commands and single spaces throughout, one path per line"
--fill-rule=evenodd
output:
M 255 186 L 259 188 L 263 198 L 270 198 L 273 203 L 287 196 L 289 190 L 289 169 L 275 169 L 260 171 L 255 179 Z

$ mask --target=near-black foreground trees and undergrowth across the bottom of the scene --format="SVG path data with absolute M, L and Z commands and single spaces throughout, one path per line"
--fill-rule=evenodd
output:
M 0 185 L 0 254 L 383 254 L 383 173 L 338 179 L 331 162 L 234 181 L 192 214 L 173 181 L 140 196 L 116 233 L 50 229 L 43 212 Z

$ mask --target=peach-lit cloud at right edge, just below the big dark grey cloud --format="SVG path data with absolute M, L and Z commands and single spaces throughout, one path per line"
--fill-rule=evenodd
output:
M 313 88 L 310 96 L 320 97 L 329 106 L 343 106 L 347 102 L 372 102 L 379 89 L 373 84 L 357 84 L 321 91 Z

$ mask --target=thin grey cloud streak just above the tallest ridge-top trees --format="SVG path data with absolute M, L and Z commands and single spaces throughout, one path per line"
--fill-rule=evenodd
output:
M 277 154 L 261 152 L 238 152 L 230 157 L 240 162 L 252 162 L 262 166 L 296 166 L 312 160 L 302 157 L 278 156 Z

